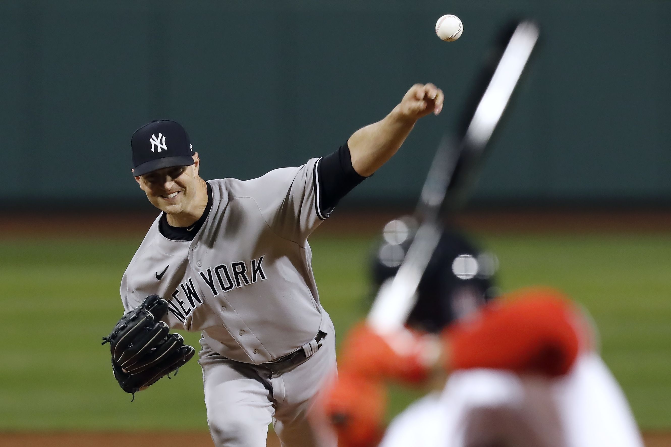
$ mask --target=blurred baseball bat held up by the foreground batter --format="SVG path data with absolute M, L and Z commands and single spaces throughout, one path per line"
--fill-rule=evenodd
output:
M 531 21 L 515 27 L 496 69 L 488 77 L 468 126 L 459 142 L 443 138 L 421 191 L 417 216 L 421 225 L 391 283 L 380 287 L 368 313 L 368 324 L 380 334 L 403 327 L 415 305 L 415 292 L 429 264 L 442 230 L 442 209 L 454 211 L 473 185 L 482 154 L 501 121 L 538 40 L 539 30 Z

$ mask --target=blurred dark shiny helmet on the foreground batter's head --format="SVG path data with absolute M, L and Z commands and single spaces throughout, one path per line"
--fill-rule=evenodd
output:
M 412 217 L 395 219 L 384 226 L 382 244 L 372 263 L 374 294 L 396 275 L 416 228 Z M 417 304 L 407 324 L 440 332 L 454 319 L 477 309 L 497 295 L 493 278 L 497 268 L 498 260 L 493 254 L 480 252 L 462 234 L 444 229 L 419 282 Z

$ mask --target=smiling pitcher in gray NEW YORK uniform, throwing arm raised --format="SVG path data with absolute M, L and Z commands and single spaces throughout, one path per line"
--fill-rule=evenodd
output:
M 193 348 L 169 328 L 198 331 L 216 446 L 264 447 L 271 422 L 284 446 L 333 445 L 306 417 L 335 367 L 307 238 L 443 100 L 435 85 L 414 85 L 332 154 L 248 181 L 201 179 L 174 121 L 138 129 L 133 175 L 161 213 L 123 274 L 126 314 L 106 338 L 121 387 L 140 391 L 189 360 Z

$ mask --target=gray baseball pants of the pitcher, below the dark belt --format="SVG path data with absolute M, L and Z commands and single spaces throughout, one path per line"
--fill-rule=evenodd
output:
M 283 447 L 336 446 L 335 440 L 315 432 L 307 418 L 312 397 L 335 370 L 335 331 L 330 321 L 324 332 L 327 336 L 313 356 L 277 374 L 229 360 L 201 339 L 199 364 L 215 446 L 266 447 L 271 422 Z

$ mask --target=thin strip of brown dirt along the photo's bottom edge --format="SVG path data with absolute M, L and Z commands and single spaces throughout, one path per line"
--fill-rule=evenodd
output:
M 650 433 L 644 436 L 647 447 L 671 446 L 671 432 Z M 3 447 L 213 447 L 209 434 L 187 433 L 63 433 L 63 434 L 1 434 Z M 271 432 L 268 447 L 279 447 Z

